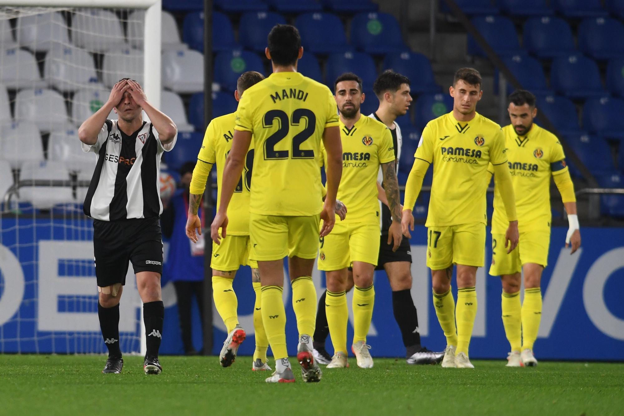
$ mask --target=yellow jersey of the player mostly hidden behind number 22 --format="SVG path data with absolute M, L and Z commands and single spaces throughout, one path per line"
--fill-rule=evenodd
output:
M 202 148 L 197 155 L 197 159 L 202 162 L 217 164 L 217 187 L 219 190 L 223 181 L 225 158 L 232 149 L 234 119 L 235 113 L 212 119 L 206 128 Z M 253 169 L 253 141 L 245 158 L 245 170 L 238 184 L 236 184 L 236 189 L 228 206 L 228 234 L 230 235 L 249 235 L 251 169 Z M 219 191 L 217 193 L 217 207 L 220 197 L 221 192 Z

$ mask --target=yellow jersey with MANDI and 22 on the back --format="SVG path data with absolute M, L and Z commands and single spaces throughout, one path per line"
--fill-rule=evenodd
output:
M 333 126 L 338 111 L 331 91 L 298 72 L 273 73 L 245 91 L 234 128 L 254 137 L 250 212 L 321 212 L 318 160 L 323 131 Z

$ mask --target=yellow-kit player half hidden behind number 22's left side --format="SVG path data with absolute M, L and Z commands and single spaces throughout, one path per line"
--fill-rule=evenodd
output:
M 254 84 L 262 81 L 265 77 L 260 72 L 248 71 L 241 74 L 236 82 L 234 96 L 240 100 L 243 92 Z M 190 185 L 188 203 L 187 235 L 195 243 L 201 238 L 202 224 L 197 215 L 206 181 L 213 164 L 217 164 L 217 186 L 221 189 L 223 181 L 223 168 L 225 158 L 232 148 L 232 132 L 234 130 L 234 113 L 213 119 L 206 129 L 202 148 L 197 156 L 197 164 L 193 169 L 193 179 Z M 215 300 L 217 312 L 223 319 L 227 328 L 228 336 L 223 343 L 219 361 L 223 367 L 230 367 L 236 359 L 236 352 L 241 342 L 245 340 L 245 330 L 238 323 L 238 300 L 232 287 L 232 281 L 236 276 L 236 270 L 241 265 L 251 266 L 251 281 L 253 290 L 256 292 L 256 302 L 253 312 L 253 327 L 255 330 L 256 350 L 253 354 L 252 370 L 270 370 L 266 364 L 266 349 L 268 340 L 262 317 L 260 314 L 260 274 L 258 264 L 249 259 L 249 194 L 251 187 L 251 164 L 253 163 L 253 147 L 247 152 L 247 171 L 239 178 L 236 190 L 232 197 L 235 204 L 229 211 L 230 238 L 223 244 L 212 246 L 212 294 Z M 217 199 L 217 204 L 218 204 Z M 195 230 L 198 231 L 198 237 Z

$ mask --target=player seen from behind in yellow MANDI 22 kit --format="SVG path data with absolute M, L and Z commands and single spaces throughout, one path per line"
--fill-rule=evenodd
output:
M 271 59 L 273 74 L 247 89 L 238 104 L 232 150 L 223 171 L 219 207 L 210 234 L 217 244 L 228 238 L 227 209 L 253 135 L 250 258 L 258 261 L 262 322 L 276 364 L 275 373 L 266 382 L 295 381 L 286 351 L 282 300 L 286 256 L 300 334 L 297 359 L 303 380 L 318 382 L 321 370 L 312 355 L 317 298 L 311 275 L 319 234 L 324 237 L 335 222 L 342 171 L 338 114 L 329 88 L 296 72 L 303 47 L 294 26 L 273 27 L 265 54 Z M 328 155 L 324 205 L 318 166 L 321 139 Z M 319 217 L 324 220 L 320 233 Z

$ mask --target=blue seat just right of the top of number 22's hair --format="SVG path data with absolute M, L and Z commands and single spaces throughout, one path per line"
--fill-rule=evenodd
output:
M 331 13 L 304 13 L 295 19 L 301 42 L 308 52 L 329 54 L 351 49 L 347 44 L 343 22 Z

